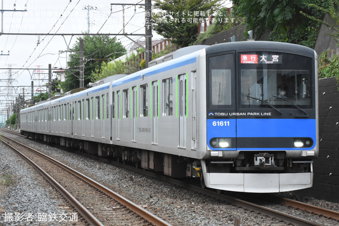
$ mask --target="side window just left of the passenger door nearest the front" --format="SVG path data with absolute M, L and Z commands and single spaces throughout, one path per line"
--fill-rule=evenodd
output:
M 162 114 L 173 115 L 173 79 L 162 80 Z

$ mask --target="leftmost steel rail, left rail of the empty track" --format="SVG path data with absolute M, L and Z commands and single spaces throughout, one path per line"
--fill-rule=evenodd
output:
M 6 138 L 9 140 L 12 140 L 6 136 L 2 135 L 2 138 Z M 30 165 L 32 165 L 35 170 L 37 172 L 39 172 L 43 177 L 46 178 L 46 180 L 48 180 L 48 182 L 50 184 L 52 184 L 52 186 L 55 187 L 56 190 L 58 190 L 60 192 L 60 194 L 62 196 L 64 196 L 73 206 L 74 208 L 77 209 L 77 211 L 81 214 L 81 216 L 83 216 L 88 223 L 90 223 L 91 225 L 100 225 L 100 226 L 104 226 L 104 224 L 102 224 L 95 216 L 93 216 L 86 208 L 85 206 L 83 206 L 76 198 L 74 198 L 66 189 L 64 189 L 64 187 L 58 183 L 57 181 L 55 181 L 48 173 L 46 173 L 41 167 L 39 167 L 38 165 L 36 165 L 32 160 L 30 160 L 27 156 L 25 156 L 24 154 L 22 154 L 19 150 L 17 150 L 16 148 L 14 148 L 13 146 L 11 146 L 9 143 L 5 142 L 4 140 L 1 140 L 4 144 L 6 144 L 7 146 L 9 146 L 10 148 L 12 148 L 18 155 L 20 155 L 24 160 L 26 160 Z M 14 141 L 14 140 L 12 140 Z

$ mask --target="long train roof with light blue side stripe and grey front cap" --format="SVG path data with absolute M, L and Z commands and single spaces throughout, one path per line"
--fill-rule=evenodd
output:
M 129 75 L 121 75 L 116 80 L 110 79 L 104 84 L 98 84 L 95 87 L 91 87 L 82 91 L 79 91 L 77 93 L 73 93 L 68 96 L 60 97 L 56 100 L 49 100 L 44 103 L 37 103 L 37 105 L 26 108 L 26 109 L 39 109 L 45 106 L 46 104 L 53 104 L 56 102 L 59 102 L 61 100 L 68 100 L 75 97 L 81 97 L 81 96 L 87 96 L 90 93 L 97 92 L 100 90 L 104 90 L 109 88 L 109 85 L 111 84 L 112 87 L 116 87 L 131 81 L 139 80 L 141 77 L 149 77 L 153 76 L 154 74 L 164 72 L 167 70 L 171 70 L 174 68 L 178 68 L 181 66 L 189 65 L 196 62 L 198 53 L 205 49 L 206 54 L 212 54 L 212 53 L 218 53 L 218 52 L 224 52 L 224 51 L 231 51 L 231 50 L 241 50 L 241 51 L 272 51 L 272 49 L 275 49 L 277 51 L 282 52 L 289 52 L 289 53 L 298 53 L 300 55 L 309 56 L 311 58 L 314 57 L 314 50 L 305 46 L 300 46 L 296 44 L 290 44 L 290 43 L 280 43 L 280 42 L 268 42 L 268 41 L 244 41 L 244 42 L 230 42 L 230 43 L 220 43 L 215 44 L 212 46 L 205 46 L 201 45 L 198 47 L 189 47 L 189 48 L 182 48 L 177 50 L 175 53 L 173 53 L 174 57 L 172 60 L 165 61 L 161 64 L 156 64 L 152 67 L 145 68 L 143 70 L 137 71 L 135 73 L 129 74 Z M 185 54 L 186 52 L 189 52 Z M 193 51 L 193 52 L 192 52 Z M 23 110 L 26 110 L 23 109 Z

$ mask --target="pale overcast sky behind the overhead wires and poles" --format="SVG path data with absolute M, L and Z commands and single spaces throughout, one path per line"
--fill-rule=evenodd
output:
M 118 0 L 0 0 L 4 11 L 0 35 L 0 115 L 15 100 L 18 93 L 25 89 L 26 100 L 30 99 L 31 81 L 34 86 L 46 83 L 48 65 L 52 69 L 66 68 L 71 48 L 77 41 L 77 35 L 88 32 L 122 34 L 123 12 Z M 229 1 L 226 5 L 230 7 Z M 144 0 L 124 0 L 124 4 L 144 4 Z M 16 11 L 13 11 L 13 10 Z M 125 32 L 143 34 L 144 8 L 141 6 L 124 6 Z M 22 12 L 21 10 L 27 10 Z M 88 16 L 89 13 L 89 16 Z M 89 19 L 88 19 L 89 18 Z M 89 20 L 89 28 L 88 28 Z M 13 33 L 14 35 L 6 35 Z M 31 33 L 34 35 L 25 35 Z M 65 34 L 37 35 L 37 34 Z M 36 34 L 36 35 L 35 35 Z M 112 35 L 111 37 L 114 37 Z M 129 36 L 135 41 L 144 41 L 144 36 Z M 153 31 L 153 40 L 162 37 Z M 133 44 L 126 37 L 118 35 L 117 39 L 128 50 Z M 8 55 L 9 54 L 9 55 Z M 9 69 L 11 68 L 11 70 Z M 40 68 L 40 70 L 39 70 Z M 8 80 L 10 78 L 12 80 Z M 52 77 L 54 79 L 56 74 Z M 45 80 L 44 80 L 45 79 Z M 8 82 L 12 81 L 12 89 Z M 7 87 L 6 87 L 7 86 Z M 43 87 L 42 87 L 43 88 Z M 41 88 L 41 89 L 42 89 Z M 39 87 L 34 87 L 34 92 Z M 12 94 L 11 94 L 12 93 Z

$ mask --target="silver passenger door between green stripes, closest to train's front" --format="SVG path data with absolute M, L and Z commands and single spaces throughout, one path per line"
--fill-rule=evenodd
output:
M 179 147 L 186 147 L 186 74 L 181 74 L 179 82 Z

